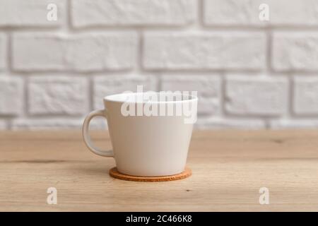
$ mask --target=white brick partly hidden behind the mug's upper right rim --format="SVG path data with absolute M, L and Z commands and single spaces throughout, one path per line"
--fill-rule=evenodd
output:
M 198 113 L 217 114 L 220 109 L 220 79 L 214 76 L 163 76 L 160 90 L 198 92 Z

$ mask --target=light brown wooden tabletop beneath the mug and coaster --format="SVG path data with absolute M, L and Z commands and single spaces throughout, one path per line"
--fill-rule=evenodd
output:
M 111 148 L 107 132 L 92 133 Z M 114 160 L 90 153 L 79 131 L 1 132 L 0 162 L 2 211 L 318 210 L 318 131 L 196 131 L 193 175 L 175 182 L 113 179 Z

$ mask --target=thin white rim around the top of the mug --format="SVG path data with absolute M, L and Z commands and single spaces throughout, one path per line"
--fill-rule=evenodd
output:
M 147 93 L 147 92 L 142 92 L 143 94 Z M 155 93 L 155 94 L 159 94 L 160 92 L 151 92 L 151 93 Z M 192 102 L 192 101 L 197 101 L 198 97 L 194 96 L 194 95 L 187 95 L 187 94 L 177 94 L 177 95 L 181 95 L 182 97 L 188 97 L 189 99 L 187 100 L 164 100 L 164 101 L 151 101 L 151 102 L 146 102 L 145 100 L 114 100 L 111 98 L 116 98 L 119 96 L 123 96 L 123 95 L 138 95 L 141 93 L 117 93 L 117 94 L 112 94 L 112 95 L 107 95 L 103 98 L 103 100 L 107 101 L 107 102 L 119 102 L 119 103 L 124 103 L 124 102 L 131 102 L 131 103 L 151 103 L 151 104 L 160 104 L 160 103 L 180 103 L 180 102 Z M 149 93 L 148 93 L 149 94 Z M 170 93 L 170 95 L 176 95 L 174 93 Z

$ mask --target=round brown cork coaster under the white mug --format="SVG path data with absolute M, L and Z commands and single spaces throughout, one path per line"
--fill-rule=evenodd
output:
M 134 182 L 170 182 L 175 181 L 177 179 L 184 179 L 190 177 L 192 175 L 192 171 L 189 168 L 185 168 L 184 172 L 175 175 L 169 176 L 161 176 L 161 177 L 139 177 L 139 176 L 131 176 L 118 172 L 117 168 L 114 167 L 110 169 L 110 176 L 117 179 L 124 179 L 126 181 L 134 181 Z

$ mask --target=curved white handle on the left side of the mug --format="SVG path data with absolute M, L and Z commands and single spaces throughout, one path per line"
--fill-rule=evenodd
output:
M 107 110 L 106 109 L 96 110 L 96 111 L 90 112 L 90 114 L 86 116 L 83 123 L 83 128 L 82 128 L 83 140 L 86 146 L 88 147 L 88 149 L 91 150 L 94 154 L 105 156 L 105 157 L 114 157 L 114 153 L 112 150 L 100 150 L 99 148 L 96 148 L 95 145 L 93 145 L 92 140 L 90 139 L 90 134 L 88 132 L 90 120 L 96 116 L 102 116 L 102 117 L 105 117 L 105 119 L 107 119 Z

